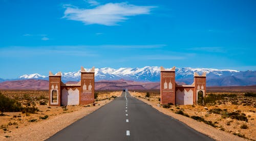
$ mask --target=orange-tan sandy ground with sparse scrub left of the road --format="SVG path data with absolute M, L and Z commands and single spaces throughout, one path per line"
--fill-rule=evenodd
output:
M 12 125 L 8 125 L 7 131 L 1 129 L 0 140 L 45 140 L 59 130 L 111 102 L 114 99 L 111 98 L 112 96 L 119 97 L 120 95 L 120 92 L 112 92 L 108 94 L 108 99 L 105 99 L 106 95 L 99 95 L 95 106 L 92 104 L 90 106 L 67 106 L 67 110 L 56 106 L 36 105 L 39 112 L 29 116 L 21 114 L 21 112 L 5 112 L 8 116 L 0 117 L 0 124 L 6 126 L 12 123 Z M 104 100 L 101 100 L 102 98 Z M 14 118 L 14 115 L 15 117 L 20 115 L 20 117 Z M 49 118 L 45 120 L 39 119 L 39 117 L 44 117 L 45 115 L 48 115 Z M 36 121 L 29 122 L 32 119 Z

